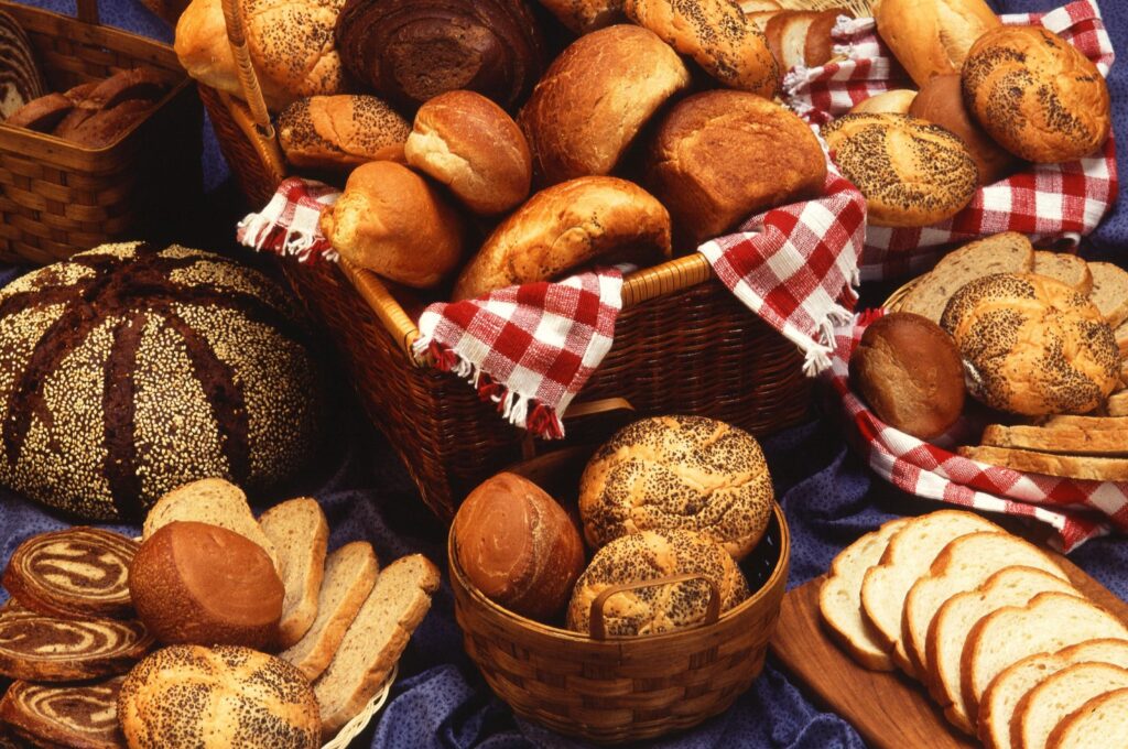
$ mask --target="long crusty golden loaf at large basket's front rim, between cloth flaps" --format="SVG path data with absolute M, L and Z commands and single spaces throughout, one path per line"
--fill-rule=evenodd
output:
M 534 195 L 486 239 L 455 284 L 455 299 L 550 281 L 599 261 L 645 265 L 670 256 L 670 214 L 617 177 L 581 177 Z

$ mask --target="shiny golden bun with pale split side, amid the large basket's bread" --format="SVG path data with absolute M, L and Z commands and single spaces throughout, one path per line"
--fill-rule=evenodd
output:
M 420 107 L 404 153 L 479 215 L 503 213 L 529 196 L 529 144 L 505 111 L 481 94 L 450 91 Z

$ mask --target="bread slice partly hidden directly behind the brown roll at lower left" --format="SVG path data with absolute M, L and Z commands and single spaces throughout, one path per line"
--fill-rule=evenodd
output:
M 142 540 L 177 520 L 194 520 L 210 526 L 219 526 L 248 538 L 265 549 L 281 570 L 277 549 L 258 527 L 255 516 L 247 504 L 243 490 L 222 478 L 201 478 L 197 482 L 174 488 L 157 500 L 146 516 L 141 531 Z

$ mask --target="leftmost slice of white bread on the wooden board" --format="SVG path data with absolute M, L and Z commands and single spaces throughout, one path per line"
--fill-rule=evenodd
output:
M 892 671 L 896 666 L 862 616 L 862 579 L 881 561 L 889 539 L 910 520 L 890 520 L 862 536 L 835 557 L 830 575 L 819 588 L 819 610 L 838 644 L 855 661 L 872 671 Z

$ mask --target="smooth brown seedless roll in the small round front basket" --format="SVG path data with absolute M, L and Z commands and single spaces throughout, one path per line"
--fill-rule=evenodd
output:
M 547 622 L 583 572 L 583 541 L 559 504 L 515 474 L 478 485 L 455 516 L 458 563 L 490 600 Z

